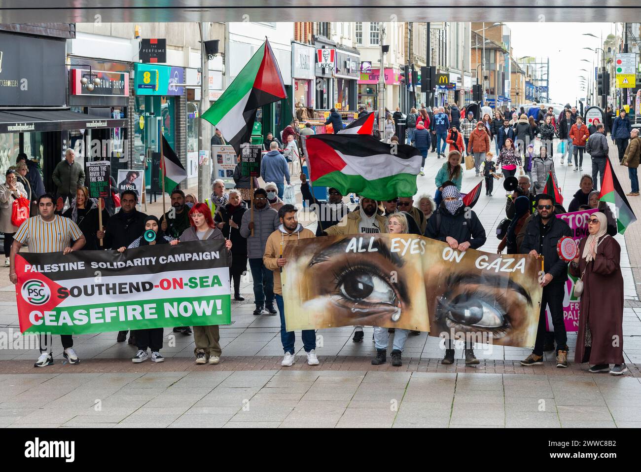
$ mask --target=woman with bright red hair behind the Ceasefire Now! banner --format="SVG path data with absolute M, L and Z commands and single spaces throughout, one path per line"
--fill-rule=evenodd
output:
M 196 203 L 196 205 L 189 210 L 189 223 L 191 226 L 180 235 L 179 239 L 174 239 L 170 243 L 172 246 L 185 241 L 224 239 L 221 230 L 219 230 L 213 222 L 212 212 L 204 203 Z M 225 247 L 227 248 L 229 266 L 231 266 L 230 240 L 225 240 Z M 218 325 L 194 326 L 194 342 L 196 342 L 194 354 L 196 354 L 196 364 L 205 364 L 208 358 L 210 364 L 218 364 L 221 362 L 222 350 L 220 340 L 221 333 Z

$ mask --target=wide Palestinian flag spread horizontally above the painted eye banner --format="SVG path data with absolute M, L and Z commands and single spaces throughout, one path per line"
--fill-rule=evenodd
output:
M 394 146 L 370 135 L 311 135 L 305 140 L 310 180 L 374 200 L 413 197 L 420 171 L 420 151 Z

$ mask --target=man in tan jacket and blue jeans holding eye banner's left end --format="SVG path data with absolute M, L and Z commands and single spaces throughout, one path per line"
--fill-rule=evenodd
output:
M 280 224 L 278 228 L 269 235 L 263 256 L 263 264 L 265 264 L 268 270 L 272 271 L 274 278 L 274 294 L 281 322 L 281 344 L 283 344 L 283 351 L 285 352 L 283 360 L 281 361 L 281 366 L 283 367 L 291 367 L 296 362 L 296 358 L 294 357 L 294 353 L 296 352 L 296 350 L 294 350 L 296 334 L 293 331 L 287 331 L 287 325 L 285 323 L 285 303 L 283 302 L 281 271 L 283 271 L 283 267 L 287 264 L 287 258 L 283 257 L 283 249 L 290 241 L 314 237 L 314 233 L 303 228 L 303 225 L 298 223 L 296 219 L 297 211 L 294 205 L 283 205 L 283 207 L 278 210 Z M 307 364 L 309 366 L 317 366 L 319 360 L 316 356 L 316 332 L 314 330 L 302 330 L 301 339 L 303 341 L 303 349 L 307 354 Z

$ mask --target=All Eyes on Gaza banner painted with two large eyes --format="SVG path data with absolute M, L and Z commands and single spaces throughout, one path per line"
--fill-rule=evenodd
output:
M 534 346 L 541 259 L 395 234 L 301 239 L 283 257 L 289 331 L 369 325 Z

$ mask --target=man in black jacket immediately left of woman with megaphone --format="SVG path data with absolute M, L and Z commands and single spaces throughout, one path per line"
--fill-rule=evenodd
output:
M 134 190 L 125 190 L 121 194 L 121 209 L 109 218 L 106 224 L 96 232 L 98 239 L 103 239 L 104 249 L 115 251 L 128 247 L 133 240 L 144 232 L 147 215 L 136 209 L 138 194 Z M 128 331 L 118 332 L 116 340 L 124 342 Z M 129 344 L 135 344 L 136 336 L 132 331 Z

